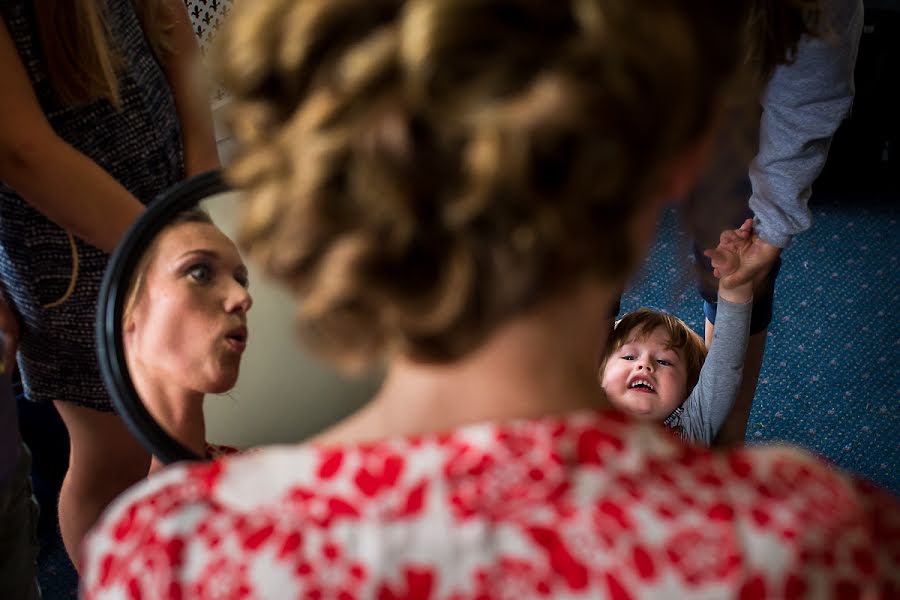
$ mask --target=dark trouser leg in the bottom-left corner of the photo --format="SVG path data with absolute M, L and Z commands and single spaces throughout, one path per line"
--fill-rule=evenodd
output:
M 38 505 L 31 493 L 31 455 L 20 445 L 15 471 L 0 484 L 0 598 L 38 600 Z

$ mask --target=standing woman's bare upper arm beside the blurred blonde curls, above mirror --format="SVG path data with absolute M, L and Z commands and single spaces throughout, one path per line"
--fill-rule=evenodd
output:
M 174 17 L 171 35 L 171 54 L 163 64 L 163 71 L 181 123 L 184 145 L 185 175 L 190 177 L 219 167 L 219 152 L 213 130 L 209 95 L 199 72 L 200 47 L 194 35 L 187 7 L 182 0 L 168 0 Z

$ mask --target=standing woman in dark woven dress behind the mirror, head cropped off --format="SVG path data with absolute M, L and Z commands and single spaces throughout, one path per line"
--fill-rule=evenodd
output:
M 108 253 L 160 191 L 218 166 L 180 0 L 0 4 L 0 286 L 20 326 L 25 395 L 69 432 L 63 541 L 147 474 L 113 412 L 94 322 Z

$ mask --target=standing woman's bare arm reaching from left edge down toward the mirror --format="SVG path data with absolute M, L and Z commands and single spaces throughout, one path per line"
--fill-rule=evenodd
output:
M 143 205 L 56 135 L 3 21 L 0 69 L 0 180 L 60 227 L 111 252 Z

